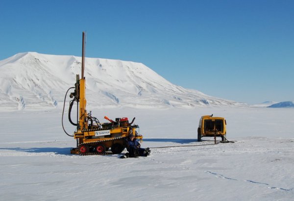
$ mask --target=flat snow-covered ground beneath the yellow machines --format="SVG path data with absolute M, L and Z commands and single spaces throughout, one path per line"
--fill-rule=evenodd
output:
M 235 143 L 197 142 L 201 115 L 227 119 Z M 294 109 L 96 109 L 136 117 L 148 157 L 70 154 L 61 111 L 1 112 L 0 200 L 293 201 Z M 65 118 L 66 129 L 73 133 Z M 170 145 L 195 145 L 156 148 Z M 125 151 L 124 151 L 125 152 Z

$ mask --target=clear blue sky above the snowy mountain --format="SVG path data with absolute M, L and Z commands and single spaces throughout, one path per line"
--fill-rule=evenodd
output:
M 294 0 L 0 0 L 0 60 L 19 52 L 140 62 L 225 99 L 294 101 Z

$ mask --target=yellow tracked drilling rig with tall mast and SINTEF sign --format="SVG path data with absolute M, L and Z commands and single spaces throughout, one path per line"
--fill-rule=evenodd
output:
M 85 40 L 86 34 L 83 32 L 82 42 L 82 67 L 81 67 L 81 78 L 76 75 L 76 82 L 73 92 L 70 93 L 70 101 L 68 118 L 73 126 L 76 126 L 76 130 L 73 135 L 68 134 L 63 126 L 63 114 L 62 112 L 62 126 L 66 134 L 76 139 L 76 148 L 71 149 L 72 154 L 79 155 L 107 155 L 107 154 L 120 154 L 123 152 L 125 146 L 125 137 L 129 134 L 133 134 L 138 140 L 143 139 L 141 134 L 138 134 L 136 129 L 138 125 L 132 125 L 135 117 L 131 122 L 128 121 L 127 117 L 115 118 L 115 120 L 107 119 L 108 123 L 100 123 L 96 117 L 92 116 L 92 112 L 87 113 L 86 110 L 86 78 L 84 76 L 85 69 Z M 68 91 L 70 90 L 68 89 Z M 67 93 L 66 92 L 66 96 Z M 66 96 L 64 105 L 66 102 Z M 73 104 L 76 103 L 76 123 L 72 121 L 71 112 Z

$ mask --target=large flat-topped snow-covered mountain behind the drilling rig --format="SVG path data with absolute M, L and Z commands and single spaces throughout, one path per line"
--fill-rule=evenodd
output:
M 0 70 L 1 111 L 62 107 L 81 57 L 25 52 L 0 61 Z M 173 85 L 141 63 L 86 58 L 85 78 L 91 108 L 244 105 Z

